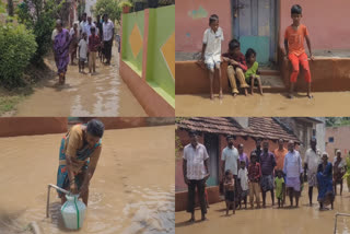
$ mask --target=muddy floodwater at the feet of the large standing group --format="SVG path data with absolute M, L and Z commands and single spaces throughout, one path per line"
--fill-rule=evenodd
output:
M 305 184 L 306 185 L 306 184 Z M 339 186 L 338 186 L 339 191 Z M 176 212 L 176 234 L 209 234 L 218 230 L 222 233 L 270 233 L 270 234 L 330 234 L 334 233 L 336 212 L 350 213 L 350 192 L 345 188 L 342 196 L 336 196 L 335 209 L 318 211 L 318 203 L 314 190 L 314 204 L 308 207 L 307 190 L 304 189 L 301 203 L 298 209 L 278 209 L 271 207 L 270 199 L 267 199 L 266 209 L 237 210 L 236 214 L 225 215 L 225 203 L 219 202 L 210 206 L 206 222 L 188 224 L 189 213 Z M 317 194 L 317 192 L 316 192 Z M 268 197 L 270 194 L 267 195 Z M 261 195 L 260 195 L 261 198 Z M 294 201 L 295 202 L 295 201 Z M 289 198 L 287 206 L 289 206 Z M 248 206 L 249 208 L 249 206 Z M 196 210 L 197 219 L 200 219 L 200 210 Z M 339 234 L 350 233 L 350 218 L 338 218 Z

